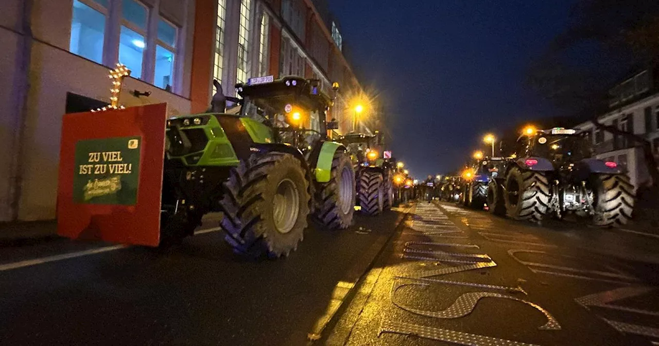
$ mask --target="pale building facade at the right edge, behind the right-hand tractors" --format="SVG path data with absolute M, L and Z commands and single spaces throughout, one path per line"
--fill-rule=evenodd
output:
M 613 88 L 610 111 L 600 115 L 598 121 L 646 138 L 652 143 L 654 157 L 659 159 L 659 81 L 656 72 L 652 69 L 639 72 Z M 651 182 L 643 149 L 635 142 L 596 129 L 590 122 L 577 128 L 590 131 L 595 157 L 614 161 L 623 167 L 636 188 Z

